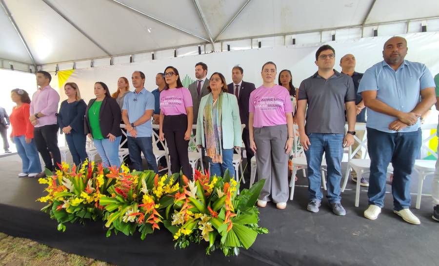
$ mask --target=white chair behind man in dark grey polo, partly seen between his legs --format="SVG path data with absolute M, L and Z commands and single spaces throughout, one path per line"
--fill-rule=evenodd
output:
M 296 184 L 296 174 L 297 170 L 304 169 L 308 167 L 308 164 L 306 162 L 306 157 L 304 156 L 304 149 L 300 145 L 300 139 L 299 139 L 299 126 L 297 124 L 293 125 L 293 149 L 294 149 L 294 157 L 292 159 L 293 163 L 293 172 L 291 174 L 291 191 L 290 191 L 290 200 L 293 200 L 294 197 L 294 186 Z M 326 179 L 325 179 L 325 169 L 327 167 L 325 154 L 323 154 L 323 158 L 321 160 L 320 165 L 320 175 L 321 175 L 321 184 L 323 185 L 323 189 L 326 190 Z M 305 175 L 303 175 L 305 176 Z

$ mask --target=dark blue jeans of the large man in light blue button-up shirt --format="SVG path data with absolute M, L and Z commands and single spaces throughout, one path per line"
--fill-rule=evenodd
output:
M 422 143 L 419 129 L 413 132 L 388 133 L 367 127 L 370 157 L 369 205 L 384 206 L 386 174 L 393 165 L 392 195 L 394 210 L 410 207 L 410 175 Z

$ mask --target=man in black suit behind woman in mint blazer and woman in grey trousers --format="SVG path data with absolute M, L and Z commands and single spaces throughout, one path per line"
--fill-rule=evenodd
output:
M 245 153 L 247 154 L 247 162 L 255 155 L 250 149 L 250 137 L 248 133 L 248 102 L 250 100 L 250 93 L 254 91 L 255 84 L 242 81 L 244 77 L 244 70 L 240 66 L 232 68 L 233 82 L 227 85 L 229 93 L 234 94 L 238 98 L 239 116 L 241 117 L 241 124 L 245 124 L 242 131 L 242 141 L 245 144 Z

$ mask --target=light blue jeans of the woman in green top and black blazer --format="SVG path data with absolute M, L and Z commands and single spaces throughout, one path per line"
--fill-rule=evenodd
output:
M 117 166 L 120 167 L 119 145 L 122 136 L 116 137 L 113 142 L 110 139 L 97 140 L 93 139 L 96 150 L 102 159 L 104 167 Z

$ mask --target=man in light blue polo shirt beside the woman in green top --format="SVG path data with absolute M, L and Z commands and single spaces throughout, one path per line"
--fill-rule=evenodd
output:
M 154 111 L 154 95 L 144 87 L 145 74 L 133 72 L 131 77 L 135 91 L 129 92 L 123 100 L 122 120 L 128 134 L 128 151 L 133 168 L 143 171 L 141 153 L 150 170 L 158 173 L 156 157 L 152 148 L 151 117 Z

